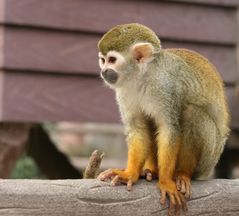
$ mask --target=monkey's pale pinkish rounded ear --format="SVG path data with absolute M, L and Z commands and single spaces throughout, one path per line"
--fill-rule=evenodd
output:
M 137 43 L 131 48 L 133 58 L 138 63 L 146 63 L 150 61 L 154 53 L 154 47 L 151 43 Z

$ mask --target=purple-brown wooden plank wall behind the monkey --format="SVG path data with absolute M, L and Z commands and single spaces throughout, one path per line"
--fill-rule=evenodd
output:
M 140 22 L 164 48 L 193 49 L 217 66 L 239 127 L 237 13 L 237 0 L 2 0 L 0 119 L 119 121 L 96 45 L 112 26 Z

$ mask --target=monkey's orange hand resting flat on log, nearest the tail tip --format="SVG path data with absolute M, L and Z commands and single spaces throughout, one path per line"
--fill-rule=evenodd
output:
M 127 170 L 120 170 L 120 169 L 108 169 L 99 174 L 97 179 L 101 181 L 111 181 L 112 186 L 126 184 L 127 190 L 132 190 L 132 185 L 135 183 L 139 178 L 137 173 L 129 172 Z

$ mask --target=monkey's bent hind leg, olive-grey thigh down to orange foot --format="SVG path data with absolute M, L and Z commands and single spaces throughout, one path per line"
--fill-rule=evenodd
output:
M 185 198 L 191 197 L 191 178 L 209 173 L 214 167 L 216 136 L 215 123 L 202 108 L 190 105 L 184 111 L 175 179 L 177 189 Z

